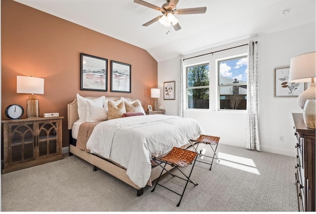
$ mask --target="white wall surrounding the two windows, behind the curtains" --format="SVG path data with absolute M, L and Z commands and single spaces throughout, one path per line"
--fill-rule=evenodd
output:
M 184 58 L 197 56 L 246 44 L 250 39 L 258 41 L 258 90 L 259 90 L 259 137 L 262 151 L 295 156 L 295 137 L 292 112 L 302 113 L 296 98 L 274 97 L 274 69 L 289 66 L 290 59 L 296 55 L 315 51 L 315 23 L 267 35 L 240 40 L 238 42 L 213 47 L 203 52 L 184 55 Z M 216 68 L 215 59 L 247 52 L 247 46 L 229 51 L 205 55 L 185 60 L 186 65 L 197 62 L 210 63 L 210 110 L 186 110 L 185 117 L 195 118 L 201 124 L 205 134 L 221 137 L 220 143 L 244 147 L 246 139 L 246 113 L 216 110 Z M 168 115 L 179 113 L 179 58 L 158 63 L 158 87 L 163 82 L 176 81 L 176 99 L 158 99 Z M 278 136 L 283 136 L 283 142 Z

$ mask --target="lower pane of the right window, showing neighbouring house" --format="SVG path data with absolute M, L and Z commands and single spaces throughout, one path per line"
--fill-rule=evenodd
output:
M 240 109 L 247 107 L 247 85 L 220 86 L 220 109 Z

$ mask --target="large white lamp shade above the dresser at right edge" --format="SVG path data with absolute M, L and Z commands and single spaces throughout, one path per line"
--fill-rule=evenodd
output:
M 291 59 L 290 82 L 311 82 L 315 73 L 315 52 L 298 55 Z

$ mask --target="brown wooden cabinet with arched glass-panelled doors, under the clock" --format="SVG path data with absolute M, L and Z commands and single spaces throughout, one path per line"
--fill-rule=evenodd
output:
M 62 118 L 2 120 L 2 174 L 62 159 Z

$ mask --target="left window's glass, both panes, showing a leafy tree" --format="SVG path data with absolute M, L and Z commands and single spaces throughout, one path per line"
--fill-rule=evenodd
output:
M 209 108 L 209 65 L 187 67 L 187 107 Z

